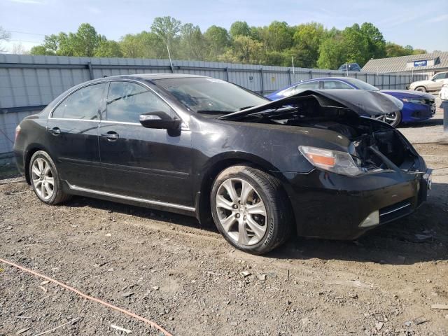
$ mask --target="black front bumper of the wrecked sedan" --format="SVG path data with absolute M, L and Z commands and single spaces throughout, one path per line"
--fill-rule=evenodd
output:
M 407 216 L 426 200 L 430 187 L 430 169 L 426 174 L 390 171 L 357 177 L 314 169 L 285 177 L 297 235 L 325 239 L 356 239 Z M 379 224 L 360 228 L 373 211 L 379 211 Z

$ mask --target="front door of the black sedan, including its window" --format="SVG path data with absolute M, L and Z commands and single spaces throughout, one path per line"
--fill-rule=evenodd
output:
M 189 130 L 169 132 L 139 123 L 143 113 L 179 118 L 153 90 L 112 81 L 99 126 L 104 189 L 109 193 L 193 206 Z

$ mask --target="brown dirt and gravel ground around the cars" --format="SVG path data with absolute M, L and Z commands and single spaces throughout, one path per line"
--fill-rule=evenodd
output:
M 441 113 L 404 134 L 433 134 Z M 414 135 L 415 137 L 415 135 Z M 416 144 L 433 168 L 448 146 Z M 236 251 L 194 218 L 73 198 L 50 207 L 0 181 L 0 258 L 149 318 L 173 335 L 448 335 L 448 169 L 426 204 L 357 241 Z M 242 273 L 244 272 L 244 273 Z M 247 275 L 248 274 L 248 275 Z M 289 275 L 288 275 L 289 274 Z M 0 262 L 0 335 L 160 335 Z M 27 329 L 29 328 L 29 329 Z M 26 331 L 23 331 L 26 330 Z

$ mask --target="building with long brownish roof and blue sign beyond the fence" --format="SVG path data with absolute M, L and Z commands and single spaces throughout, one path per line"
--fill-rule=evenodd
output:
M 370 59 L 362 71 L 375 73 L 414 74 L 425 73 L 432 76 L 448 71 L 448 52 L 435 51 L 428 54 Z

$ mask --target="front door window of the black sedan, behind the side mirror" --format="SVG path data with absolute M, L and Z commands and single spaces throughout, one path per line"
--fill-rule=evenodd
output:
M 162 111 L 176 118 L 176 113 L 146 87 L 130 82 L 111 82 L 104 120 L 139 123 L 141 114 L 155 111 Z

